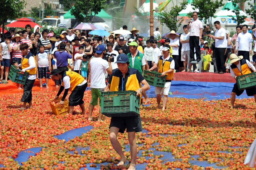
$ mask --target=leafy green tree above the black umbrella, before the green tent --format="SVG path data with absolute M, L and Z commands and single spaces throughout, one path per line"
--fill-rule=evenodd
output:
M 69 3 L 69 0 L 66 0 Z M 72 6 L 70 6 L 70 14 L 75 16 L 79 22 L 88 22 L 90 20 L 89 16 L 97 15 L 101 9 L 103 9 L 103 4 L 106 0 L 76 0 Z

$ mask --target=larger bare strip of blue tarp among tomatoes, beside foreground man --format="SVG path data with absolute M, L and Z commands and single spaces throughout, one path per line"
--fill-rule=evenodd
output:
M 64 132 L 63 134 L 56 135 L 54 137 L 58 138 L 60 140 L 65 139 L 67 142 L 70 139 L 75 138 L 76 136 L 81 136 L 83 133 L 86 133 L 86 132 L 90 131 L 91 129 L 93 129 L 93 126 L 89 125 L 89 126 L 69 130 L 67 132 Z

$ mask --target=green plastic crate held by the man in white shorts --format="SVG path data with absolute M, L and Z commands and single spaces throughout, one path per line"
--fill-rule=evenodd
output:
M 165 75 L 164 77 L 162 77 L 161 75 L 162 73 L 156 71 L 144 70 L 143 77 L 149 83 L 149 85 L 156 87 L 165 87 L 165 79 L 167 75 Z

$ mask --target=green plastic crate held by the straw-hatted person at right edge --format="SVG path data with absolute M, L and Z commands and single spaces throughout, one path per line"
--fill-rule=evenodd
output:
M 256 72 L 237 76 L 236 83 L 239 90 L 248 89 L 256 86 Z

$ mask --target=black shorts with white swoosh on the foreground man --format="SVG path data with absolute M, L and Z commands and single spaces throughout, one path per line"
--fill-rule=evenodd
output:
M 110 127 L 119 128 L 120 133 L 126 132 L 140 132 L 142 131 L 141 119 L 140 116 L 131 116 L 131 117 L 111 117 Z

